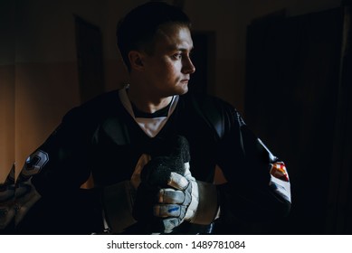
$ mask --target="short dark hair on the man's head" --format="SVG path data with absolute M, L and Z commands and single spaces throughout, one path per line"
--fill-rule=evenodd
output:
M 191 28 L 189 17 L 181 9 L 162 2 L 139 5 L 119 21 L 116 30 L 119 52 L 128 71 L 128 52 L 150 50 L 157 29 L 166 23 L 177 23 Z

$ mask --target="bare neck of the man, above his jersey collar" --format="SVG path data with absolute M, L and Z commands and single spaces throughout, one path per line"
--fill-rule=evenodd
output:
M 138 110 L 146 113 L 155 113 L 166 108 L 171 103 L 172 96 L 166 98 L 153 98 L 146 92 L 140 92 L 132 87 L 128 89 L 128 99 Z

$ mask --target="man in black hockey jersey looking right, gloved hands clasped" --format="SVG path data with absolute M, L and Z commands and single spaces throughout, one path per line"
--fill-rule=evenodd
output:
M 157 2 L 119 23 L 130 83 L 73 108 L 28 157 L 17 181 L 19 232 L 224 233 L 238 220 L 288 213 L 285 165 L 232 106 L 187 93 L 195 72 L 190 26 L 182 11 Z M 190 159 L 146 191 L 155 150 L 171 148 L 176 136 Z M 216 167 L 226 183 L 214 184 Z M 95 187 L 80 189 L 90 174 Z

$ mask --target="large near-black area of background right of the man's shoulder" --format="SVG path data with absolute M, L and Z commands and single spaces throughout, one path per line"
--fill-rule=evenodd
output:
M 290 168 L 284 233 L 351 232 L 350 15 L 278 13 L 248 28 L 246 119 Z

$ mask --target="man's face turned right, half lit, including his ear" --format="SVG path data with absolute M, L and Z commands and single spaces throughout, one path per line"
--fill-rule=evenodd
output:
M 160 98 L 185 94 L 190 75 L 195 72 L 190 59 L 192 49 L 191 33 L 186 26 L 162 26 L 153 52 L 143 58 L 147 89 Z

